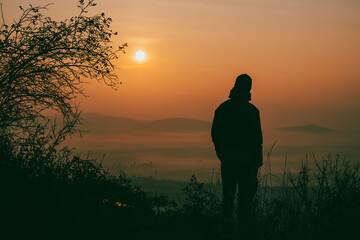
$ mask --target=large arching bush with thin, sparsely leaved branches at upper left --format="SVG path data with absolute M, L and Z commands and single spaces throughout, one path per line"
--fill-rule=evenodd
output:
M 127 46 L 111 46 L 111 18 L 87 16 L 93 0 L 79 1 L 79 14 L 54 21 L 44 7 L 20 7 L 22 15 L 0 26 L 0 135 L 29 153 L 43 148 L 51 155 L 66 136 L 77 132 L 80 110 L 74 103 L 85 95 L 83 84 L 120 84 L 113 60 Z M 49 123 L 46 110 L 62 115 L 62 124 Z M 51 126 L 50 126 L 51 125 Z M 61 126 L 60 126 L 61 125 Z M 36 141 L 36 142 L 34 142 Z

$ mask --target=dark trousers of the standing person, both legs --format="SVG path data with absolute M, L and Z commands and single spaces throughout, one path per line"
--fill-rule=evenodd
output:
M 234 197 L 238 188 L 237 217 L 239 223 L 246 223 L 251 218 L 252 202 L 258 187 L 258 167 L 221 165 L 223 182 L 222 216 L 231 219 L 234 211 Z

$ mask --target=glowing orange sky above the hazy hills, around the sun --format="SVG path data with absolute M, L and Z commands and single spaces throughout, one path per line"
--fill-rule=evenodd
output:
M 6 19 L 18 5 L 54 2 L 57 19 L 76 0 L 2 0 Z M 116 65 L 123 85 L 87 86 L 84 112 L 137 119 L 211 120 L 238 74 L 253 78 L 253 103 L 269 128 L 315 123 L 360 130 L 360 1 L 98 0 L 129 48 Z M 115 40 L 115 39 L 114 39 Z M 116 42 L 115 42 L 116 43 Z M 136 63 L 142 49 L 147 61 Z

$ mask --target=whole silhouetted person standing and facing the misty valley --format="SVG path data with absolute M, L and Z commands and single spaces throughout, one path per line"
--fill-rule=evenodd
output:
M 227 101 L 216 109 L 211 129 L 215 151 L 221 161 L 223 181 L 222 217 L 231 223 L 238 187 L 238 222 L 246 227 L 257 190 L 258 168 L 262 165 L 262 132 L 259 110 L 251 104 L 252 80 L 247 74 L 236 78 Z

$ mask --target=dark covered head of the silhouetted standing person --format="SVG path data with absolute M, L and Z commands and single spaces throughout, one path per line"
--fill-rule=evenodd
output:
M 252 79 L 247 74 L 241 74 L 236 78 L 235 85 L 230 91 L 229 98 L 239 100 L 251 100 Z

